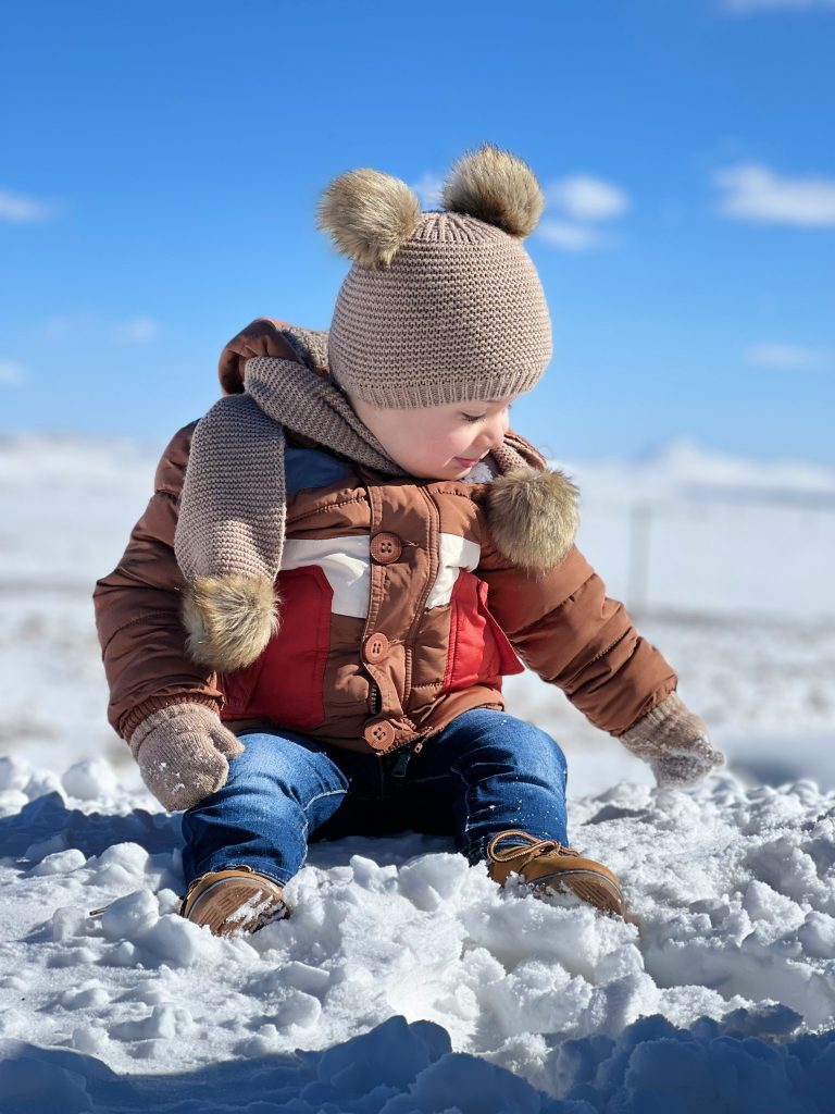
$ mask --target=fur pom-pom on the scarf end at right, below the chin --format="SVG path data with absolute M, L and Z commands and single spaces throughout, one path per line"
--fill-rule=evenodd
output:
M 495 548 L 521 568 L 553 568 L 574 544 L 579 495 L 558 470 L 519 468 L 497 476 L 484 500 Z

